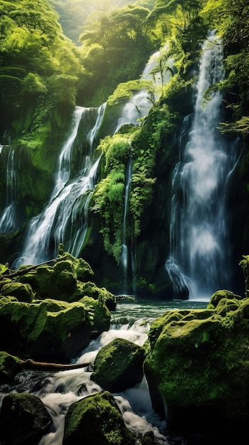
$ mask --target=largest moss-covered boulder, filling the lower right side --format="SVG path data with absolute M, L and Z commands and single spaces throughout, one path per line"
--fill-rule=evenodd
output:
M 150 328 L 153 407 L 178 431 L 238 433 L 249 421 L 249 299 L 219 296 L 211 309 L 167 311 Z

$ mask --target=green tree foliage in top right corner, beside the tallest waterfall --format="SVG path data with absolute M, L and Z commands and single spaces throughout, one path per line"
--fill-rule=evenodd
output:
M 249 4 L 248 0 L 209 0 L 202 14 L 221 36 L 225 50 L 226 79 L 217 87 L 228 93 L 227 107 L 233 122 L 221 124 L 222 132 L 248 134 Z M 232 93 L 232 94 L 231 94 Z

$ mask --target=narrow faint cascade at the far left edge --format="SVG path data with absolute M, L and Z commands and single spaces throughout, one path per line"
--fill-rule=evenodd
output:
M 3 146 L 0 146 L 0 153 Z M 16 230 L 16 199 L 18 198 L 18 171 L 15 150 L 10 149 L 6 169 L 6 206 L 0 218 L 0 233 Z

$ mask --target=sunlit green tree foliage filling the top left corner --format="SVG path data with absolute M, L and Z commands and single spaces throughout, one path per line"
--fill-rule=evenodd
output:
M 12 139 L 42 146 L 50 129 L 57 129 L 53 116 L 61 104 L 74 106 L 84 69 L 47 0 L 0 0 L 0 11 L 1 106 L 8 109 L 1 133 L 8 128 Z

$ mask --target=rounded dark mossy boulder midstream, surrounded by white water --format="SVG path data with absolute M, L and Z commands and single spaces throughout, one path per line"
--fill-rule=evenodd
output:
M 119 392 L 143 378 L 145 350 L 123 338 L 115 338 L 96 355 L 91 380 L 104 390 Z

